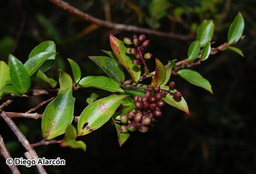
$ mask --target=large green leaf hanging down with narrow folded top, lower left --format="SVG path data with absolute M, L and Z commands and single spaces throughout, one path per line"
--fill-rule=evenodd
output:
M 47 105 L 42 119 L 42 132 L 45 140 L 63 134 L 73 120 L 75 98 L 72 96 L 73 81 L 70 75 L 61 71 L 59 75 L 59 95 Z

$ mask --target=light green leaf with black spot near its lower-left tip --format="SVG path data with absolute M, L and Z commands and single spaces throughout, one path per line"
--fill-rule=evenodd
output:
M 104 125 L 125 97 L 128 95 L 110 95 L 86 106 L 77 123 L 78 136 L 89 134 Z

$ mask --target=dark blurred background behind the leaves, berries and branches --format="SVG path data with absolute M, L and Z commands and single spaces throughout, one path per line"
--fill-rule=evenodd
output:
M 104 4 L 110 3 L 112 22 L 133 24 L 149 28 L 144 18 L 149 16 L 149 1 L 68 1 L 84 12 L 105 19 Z M 128 6 L 134 3 L 136 8 Z M 186 9 L 183 19 L 197 24 L 204 17 L 195 13 L 195 8 L 206 1 L 170 1 L 172 14 L 176 7 Z M 205 12 L 206 19 L 216 19 L 225 6 L 217 1 L 216 10 Z M 188 8 L 189 7 L 189 8 Z M 116 131 L 110 123 L 96 132 L 82 138 L 87 150 L 61 148 L 59 145 L 36 147 L 39 157 L 66 159 L 66 166 L 47 166 L 48 173 L 256 173 L 256 118 L 255 118 L 255 11 L 254 0 L 231 1 L 227 18 L 216 25 L 213 47 L 227 40 L 230 22 L 238 12 L 245 19 L 246 38 L 236 44 L 243 51 L 244 58 L 234 52 L 220 52 L 193 68 L 208 79 L 213 95 L 193 86 L 180 77 L 172 76 L 176 88 L 183 93 L 190 109 L 186 113 L 165 105 L 163 116 L 149 130 L 142 134 L 135 132 L 120 148 Z M 170 31 L 172 21 L 160 19 L 161 31 Z M 66 58 L 73 58 L 82 69 L 82 76 L 105 75 L 88 56 L 105 55 L 101 49 L 110 50 L 108 37 L 131 37 L 134 33 L 114 31 L 100 27 L 89 31 L 90 24 L 61 10 L 50 1 L 2 1 L 0 6 L 0 60 L 8 63 L 8 54 L 13 54 L 23 63 L 29 52 L 40 42 L 54 40 L 57 45 L 57 60 L 48 76 L 57 79 L 58 68 L 70 71 Z M 190 32 L 177 23 L 176 33 Z M 136 33 L 140 34 L 140 33 Z M 166 64 L 177 58 L 186 58 L 191 40 L 182 41 L 147 35 L 154 57 Z M 152 61 L 153 62 L 153 61 Z M 153 70 L 154 64 L 149 63 Z M 49 86 L 45 86 L 48 88 Z M 33 88 L 38 88 L 36 84 Z M 93 89 L 75 92 L 75 116 L 86 106 L 86 97 Z M 6 111 L 25 112 L 48 97 L 17 98 Z M 1 101 L 2 102 L 2 101 Z M 37 111 L 43 113 L 43 108 Z M 13 119 L 31 143 L 42 139 L 40 120 Z M 0 119 L 0 134 L 13 157 L 24 157 L 24 148 L 6 122 Z M 22 173 L 35 173 L 36 168 L 19 167 Z M 3 157 L 0 157 L 0 173 L 10 173 Z

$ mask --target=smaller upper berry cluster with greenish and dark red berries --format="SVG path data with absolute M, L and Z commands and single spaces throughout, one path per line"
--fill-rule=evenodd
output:
M 149 59 L 153 56 L 149 52 L 144 54 L 144 48 L 148 47 L 150 44 L 150 40 L 146 40 L 146 35 L 142 34 L 139 37 L 137 37 L 137 35 L 134 35 L 133 40 L 130 38 L 123 38 L 123 42 L 126 45 L 130 46 L 126 49 L 126 53 L 127 54 L 135 54 L 135 56 L 137 58 L 137 59 L 133 60 L 133 65 L 140 65 L 141 64 L 140 60 L 142 60 L 142 63 L 144 63 L 144 65 L 146 67 L 144 58 Z M 134 47 L 131 47 L 132 45 Z

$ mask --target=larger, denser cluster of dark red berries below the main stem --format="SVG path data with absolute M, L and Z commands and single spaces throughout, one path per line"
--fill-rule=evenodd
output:
M 162 100 L 165 95 L 166 91 L 158 85 L 147 86 L 143 97 L 135 95 L 133 100 L 137 109 L 120 116 L 120 121 L 123 123 L 120 132 L 135 132 L 137 129 L 140 132 L 147 132 L 149 127 L 153 126 L 153 122 L 156 122 L 156 118 L 162 115 L 160 107 L 165 104 Z

